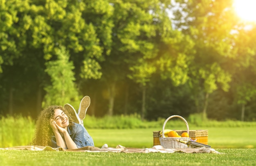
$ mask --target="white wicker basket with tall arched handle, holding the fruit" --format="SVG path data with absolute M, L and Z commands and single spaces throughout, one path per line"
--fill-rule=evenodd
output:
M 162 130 L 163 133 L 164 133 L 164 128 L 165 128 L 165 125 L 166 125 L 167 121 L 172 119 L 172 118 L 174 118 L 174 117 L 180 118 L 180 119 L 182 119 L 185 122 L 186 129 L 187 129 L 186 132 L 189 134 L 189 124 L 186 121 L 186 119 L 184 119 L 180 115 L 173 115 L 171 117 L 168 117 L 164 121 L 163 130 Z M 163 146 L 166 149 L 171 149 L 171 148 L 187 148 L 188 147 L 186 144 L 183 144 L 183 143 L 180 143 L 180 142 L 176 141 L 176 139 L 182 139 L 184 141 L 190 141 L 191 140 L 191 138 L 188 138 L 188 137 L 165 137 L 164 134 L 162 134 L 162 137 L 159 137 L 159 141 L 160 141 L 161 146 Z

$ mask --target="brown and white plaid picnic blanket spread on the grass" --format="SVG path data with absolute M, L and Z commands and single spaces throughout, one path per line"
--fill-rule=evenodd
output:
M 115 153 L 219 153 L 213 148 L 175 148 L 165 149 L 161 145 L 152 148 L 126 148 L 117 145 L 116 148 L 108 147 L 104 144 L 101 148 L 95 146 L 85 146 L 78 149 L 52 148 L 50 146 L 14 146 L 10 148 L 0 148 L 0 150 L 48 150 L 48 151 L 72 151 L 72 152 L 115 152 Z

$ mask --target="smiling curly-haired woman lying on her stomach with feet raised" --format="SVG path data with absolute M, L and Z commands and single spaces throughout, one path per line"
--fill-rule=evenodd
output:
M 90 105 L 90 97 L 81 100 L 78 114 L 70 104 L 64 108 L 52 105 L 43 110 L 36 122 L 33 145 L 76 149 L 94 146 L 92 137 L 83 126 L 83 119 Z

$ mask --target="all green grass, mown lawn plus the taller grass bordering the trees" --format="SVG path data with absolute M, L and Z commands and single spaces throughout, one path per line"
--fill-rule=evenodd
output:
M 85 127 L 93 137 L 95 146 L 100 148 L 103 144 L 108 144 L 109 147 L 116 147 L 120 144 L 126 147 L 151 148 L 153 146 L 153 131 L 162 130 L 162 124 L 165 119 L 142 123 L 137 121 L 136 117 L 133 118 L 123 118 L 123 121 L 118 122 L 118 117 L 115 117 L 115 123 L 109 117 L 99 121 L 94 119 L 94 121 L 87 121 Z M 93 126 L 90 126 L 92 123 L 101 127 L 93 128 Z M 81 153 L 0 150 L 0 164 L 3 166 L 256 165 L 255 122 L 209 121 L 208 123 L 189 124 L 190 130 L 209 130 L 208 144 L 221 154 Z M 0 119 L 0 148 L 29 145 L 34 135 L 34 127 L 34 120 L 29 117 L 7 117 Z M 186 126 L 182 121 L 171 121 L 166 124 L 167 128 L 185 130 Z

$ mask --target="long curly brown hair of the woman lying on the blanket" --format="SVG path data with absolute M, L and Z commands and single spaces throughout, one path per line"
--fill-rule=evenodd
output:
M 53 119 L 56 109 L 63 110 L 69 120 L 69 126 L 73 125 L 73 120 L 70 114 L 60 105 L 51 105 L 40 112 L 36 121 L 36 130 L 34 138 L 32 139 L 33 145 L 39 146 L 52 146 L 51 137 L 54 135 L 50 126 L 50 119 Z

